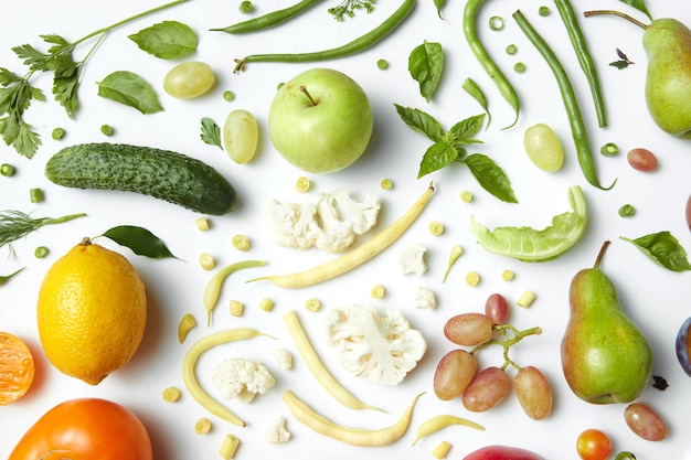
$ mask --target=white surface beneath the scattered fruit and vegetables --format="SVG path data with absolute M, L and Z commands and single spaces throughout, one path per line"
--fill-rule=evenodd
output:
M 145 11 L 162 2 L 141 0 L 103 4 L 88 1 L 38 1 L 11 2 L 0 17 L 0 64 L 23 74 L 25 68 L 11 52 L 11 46 L 32 43 L 42 46 L 39 35 L 57 33 L 73 41 L 105 25 L 131 14 Z M 481 9 L 478 30 L 508 77 L 514 83 L 522 103 L 521 117 L 515 127 L 501 130 L 510 124 L 512 113 L 501 99 L 491 81 L 471 55 L 461 31 L 464 3 L 449 1 L 440 20 L 429 1 L 419 1 L 408 19 L 393 34 L 371 50 L 348 58 L 307 64 L 249 64 L 243 74 L 233 74 L 233 60 L 251 53 L 302 52 L 341 44 L 370 30 L 386 18 L 398 2 L 381 1 L 375 12 L 359 12 L 355 19 L 334 23 L 325 11 L 325 3 L 302 17 L 277 29 L 245 36 L 232 36 L 209 32 L 211 28 L 225 26 L 247 17 L 238 10 L 240 1 L 196 0 L 189 1 L 157 15 L 123 26 L 98 46 L 88 62 L 79 90 L 82 107 L 74 120 L 53 100 L 33 103 L 26 120 L 42 135 L 43 146 L 32 160 L 18 156 L 12 148 L 0 148 L 0 162 L 17 167 L 14 178 L 0 178 L 1 208 L 31 212 L 35 216 L 59 216 L 85 212 L 87 217 L 60 226 L 44 227 L 17 242 L 13 247 L 17 259 L 9 256 L 7 247 L 0 256 L 0 274 L 7 275 L 20 267 L 26 269 L 11 282 L 0 288 L 0 330 L 19 335 L 31 346 L 38 365 L 36 378 L 30 392 L 20 400 L 0 408 L 0 457 L 7 457 L 22 434 L 47 409 L 73 397 L 95 396 L 115 400 L 132 409 L 146 424 L 152 439 L 157 460 L 189 458 L 215 458 L 223 436 L 233 432 L 241 438 L 238 459 L 302 458 L 320 459 L 329 454 L 334 459 L 358 456 L 363 459 L 397 454 L 400 458 L 430 458 L 430 450 L 440 440 L 448 440 L 453 449 L 448 458 L 461 459 L 476 448 L 500 443 L 531 449 L 545 459 L 577 459 L 575 440 L 586 428 L 606 430 L 615 451 L 630 450 L 639 460 L 691 459 L 691 446 L 687 436 L 689 377 L 682 372 L 674 354 L 674 336 L 683 320 L 691 314 L 689 308 L 689 275 L 668 271 L 640 254 L 619 236 L 638 237 L 649 233 L 670 231 L 680 243 L 691 248 L 691 239 L 683 217 L 689 196 L 689 141 L 674 139 L 660 131 L 648 116 L 644 99 L 646 55 L 641 46 L 642 31 L 617 18 L 580 18 L 600 74 L 606 98 L 609 126 L 597 127 L 586 81 L 568 42 L 565 29 L 551 2 L 500 2 L 488 1 Z M 290 2 L 256 0 L 257 13 L 265 13 Z M 333 2 L 336 4 L 336 2 Z M 630 12 L 645 20 L 632 8 L 615 0 L 577 2 L 578 12 L 585 9 L 613 8 Z M 538 8 L 546 4 L 552 9 L 548 18 L 538 15 Z M 556 50 L 576 88 L 582 111 L 589 130 L 598 174 L 604 184 L 618 178 L 610 191 L 597 190 L 584 180 L 576 162 L 567 118 L 554 77 L 544 60 L 511 18 L 521 8 L 533 25 Z M 691 13 L 684 2 L 650 2 L 656 18 L 672 17 L 691 23 Z M 504 19 L 501 32 L 489 31 L 491 15 Z M 217 83 L 211 93 L 194 100 L 176 100 L 162 90 L 166 72 L 177 62 L 166 62 L 140 51 L 128 34 L 160 22 L 178 20 L 192 26 L 199 34 L 196 53 L 189 58 L 200 60 L 213 66 Z M 432 103 L 419 95 L 417 84 L 407 72 L 410 52 L 424 40 L 439 42 L 446 55 L 446 68 L 442 85 Z M 504 53 L 508 44 L 518 46 L 518 54 Z M 88 45 L 77 49 L 81 57 Z M 618 71 L 608 63 L 617 60 L 619 47 L 636 64 Z M 376 67 L 376 61 L 390 63 L 386 71 Z M 527 65 L 524 74 L 512 71 L 513 63 Z M 267 135 L 268 106 L 277 85 L 315 67 L 329 66 L 340 69 L 359 82 L 370 96 L 375 117 L 375 130 L 363 158 L 352 168 L 328 175 L 310 175 L 313 191 L 323 192 L 348 186 L 355 195 L 365 192 L 382 197 L 383 210 L 378 229 L 393 222 L 423 192 L 429 180 L 437 190 L 428 207 L 417 223 L 392 247 L 374 260 L 341 278 L 309 289 L 286 290 L 268 282 L 246 285 L 244 281 L 257 275 L 287 272 L 307 268 L 333 256 L 318 250 L 296 252 L 277 247 L 270 236 L 264 205 L 270 197 L 300 201 L 293 189 L 302 172 L 290 167 L 272 147 Z M 97 96 L 96 82 L 115 71 L 131 71 L 150 82 L 157 89 L 166 111 L 143 116 L 131 109 Z M 481 113 L 477 103 L 460 87 L 466 77 L 472 77 L 483 88 L 490 101 L 492 122 L 479 136 L 485 141 L 476 150 L 488 154 L 509 175 L 519 204 L 504 204 L 482 191 L 469 172 L 451 167 L 423 180 L 416 180 L 419 159 L 428 141 L 408 129 L 398 118 L 393 104 L 421 108 L 435 116 L 445 127 L 471 115 Z M 47 75 L 33 79 L 50 96 Z M 223 99 L 224 90 L 231 89 L 236 98 Z M 200 119 L 209 116 L 222 124 L 227 113 L 245 108 L 255 114 L 262 130 L 261 151 L 255 161 L 245 165 L 234 164 L 216 147 L 203 143 L 200 138 Z M 535 122 L 548 122 L 561 137 L 566 161 L 556 173 L 538 170 L 522 150 L 522 133 Z M 110 124 L 116 135 L 107 139 L 100 131 L 103 124 Z M 51 131 L 63 127 L 67 136 L 60 142 L 51 139 Z M 89 142 L 114 141 L 177 150 L 196 157 L 217 168 L 236 186 L 240 207 L 232 214 L 212 217 L 212 228 L 202 233 L 194 220 L 199 217 L 184 208 L 147 196 L 120 192 L 68 190 L 51 184 L 43 175 L 43 167 L 52 153 L 62 147 Z M 616 142 L 621 154 L 616 158 L 599 156 L 599 146 Z M 659 159 L 659 170 L 641 173 L 626 162 L 626 151 L 635 147 L 652 150 Z M 379 188 L 383 178 L 393 179 L 392 191 Z M 589 223 L 583 238 L 561 258 L 546 264 L 522 264 L 513 259 L 487 253 L 478 246 L 469 233 L 469 218 L 493 227 L 498 225 L 530 225 L 542 228 L 553 215 L 568 210 L 567 188 L 580 184 L 586 195 Z M 45 201 L 31 204 L 29 189 L 41 188 Z M 459 194 L 471 191 L 472 203 L 463 203 Z M 637 214 L 621 218 L 617 210 L 630 203 Z M 433 220 L 446 225 L 446 233 L 433 237 L 427 225 Z M 35 327 L 35 301 L 41 280 L 47 268 L 83 236 L 95 236 L 116 225 L 143 226 L 160 236 L 182 260 L 152 260 L 134 255 L 129 249 L 100 239 L 100 244 L 120 252 L 137 267 L 149 297 L 149 320 L 143 342 L 123 370 L 107 377 L 97 386 L 67 377 L 55 371 L 45 360 Z M 240 253 L 231 246 L 236 233 L 252 237 L 249 253 Z M 363 238 L 365 239 L 365 238 Z M 646 332 L 653 349 L 653 375 L 663 376 L 669 388 L 660 392 L 648 387 L 640 400 L 653 406 L 667 420 L 669 437 L 662 442 L 649 442 L 634 435 L 624 422 L 624 405 L 596 406 L 577 399 L 568 389 L 560 363 L 560 341 L 568 315 L 567 292 L 573 276 L 582 268 L 591 267 L 605 239 L 612 239 L 602 268 L 617 286 L 626 312 Z M 408 245 L 422 243 L 427 246 L 428 270 L 423 276 L 403 276 L 398 271 L 397 255 Z M 448 253 L 454 244 L 460 244 L 465 254 L 453 268 L 449 279 L 442 284 Z M 45 245 L 51 253 L 45 259 L 35 259 L 33 250 Z M 198 256 L 209 252 L 223 266 L 244 258 L 266 259 L 268 266 L 252 272 L 237 272 L 225 285 L 221 304 L 214 315 L 213 327 L 203 324 L 202 291 L 211 274 L 202 270 Z M 514 280 L 502 281 L 503 269 L 515 272 Z M 482 277 L 477 287 L 468 287 L 464 277 L 476 270 Z M 370 298 L 370 288 L 383 284 L 387 296 L 382 300 Z M 412 287 L 426 286 L 438 297 L 434 311 L 413 307 Z M 538 299 L 530 309 L 514 306 L 527 289 Z M 521 365 L 536 365 L 549 377 L 554 392 L 552 415 L 543 421 L 529 419 L 512 394 L 499 407 L 485 413 L 471 414 L 459 400 L 440 402 L 432 392 L 432 377 L 438 360 L 454 347 L 442 334 L 444 322 L 459 312 L 481 311 L 485 299 L 492 292 L 503 293 L 512 304 L 510 321 L 519 329 L 540 325 L 544 333 L 531 336 L 511 350 L 511 356 Z M 259 311 L 261 298 L 275 301 L 272 312 Z M 316 297 L 323 309 L 340 307 L 344 302 L 372 304 L 380 309 L 400 309 L 428 341 L 428 350 L 418 367 L 396 387 L 384 387 L 352 377 L 336 363 L 334 355 L 325 343 L 320 329 L 320 313 L 304 310 L 304 301 Z M 227 314 L 231 299 L 243 301 L 247 308 L 243 318 Z M 270 356 L 275 346 L 295 352 L 281 317 L 297 309 L 306 324 L 319 354 L 337 378 L 365 403 L 383 407 L 386 413 L 353 411 L 334 402 L 319 387 L 300 359 L 296 355 L 294 370 L 278 367 Z M 196 315 L 200 325 L 180 345 L 177 340 L 179 319 L 187 312 Z M 247 421 L 246 428 L 224 422 L 200 407 L 184 391 L 176 404 L 163 403 L 161 392 L 174 385 L 183 388 L 182 357 L 195 340 L 206 334 L 234 327 L 254 327 L 274 334 L 277 342 L 255 339 L 246 343 L 221 346 L 206 353 L 200 363 L 200 378 L 210 385 L 211 367 L 228 356 L 252 357 L 262 361 L 277 378 L 276 387 L 243 406 L 232 402 L 228 406 Z M 493 350 L 493 349 L 490 349 Z M 500 365 L 499 350 L 480 354 L 481 365 Z M 295 391 L 318 411 L 346 426 L 380 428 L 393 424 L 411 398 L 427 392 L 416 407 L 411 429 L 396 443 L 385 448 L 355 448 L 323 438 L 294 420 L 281 402 L 285 389 Z M 430 416 L 455 414 L 486 426 L 483 432 L 455 427 L 418 442 L 414 448 L 416 427 Z M 274 417 L 288 419 L 293 439 L 285 445 L 267 445 L 262 440 L 262 428 Z M 210 416 L 213 431 L 206 436 L 194 434 L 194 422 Z M 114 439 L 114 442 L 117 440 Z

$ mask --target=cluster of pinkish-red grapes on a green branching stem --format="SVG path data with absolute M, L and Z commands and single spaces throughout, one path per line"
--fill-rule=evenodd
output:
M 542 332 L 540 328 L 519 331 L 507 323 L 509 306 L 503 296 L 487 298 L 485 312 L 460 313 L 444 325 L 444 335 L 456 345 L 445 354 L 434 375 L 434 392 L 442 400 L 461 397 L 470 411 L 496 407 L 513 387 L 523 411 L 534 420 L 546 418 L 552 411 L 552 388 L 544 374 L 535 366 L 520 366 L 509 357 L 509 349 L 529 335 Z M 490 345 L 503 347 L 501 366 L 479 370 L 476 355 Z M 514 368 L 513 381 L 508 368 Z

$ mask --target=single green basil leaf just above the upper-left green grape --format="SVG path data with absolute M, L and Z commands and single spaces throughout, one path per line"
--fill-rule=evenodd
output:
M 192 54 L 198 39 L 194 31 L 178 21 L 163 21 L 128 35 L 140 50 L 161 60 L 174 60 Z

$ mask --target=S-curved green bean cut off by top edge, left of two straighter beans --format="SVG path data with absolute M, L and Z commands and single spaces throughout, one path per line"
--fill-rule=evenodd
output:
M 518 94 L 515 93 L 515 89 L 513 88 L 513 85 L 511 84 L 511 82 L 509 82 L 509 79 L 499 68 L 499 66 L 491 58 L 491 56 L 487 52 L 487 49 L 478 36 L 477 15 L 483 2 L 485 0 L 468 0 L 468 2 L 466 3 L 463 18 L 464 34 L 466 35 L 466 41 L 468 42 L 470 51 L 472 51 L 476 60 L 482 66 L 487 75 L 489 75 L 489 77 L 495 82 L 501 96 L 507 100 L 507 103 L 509 103 L 509 105 L 513 108 L 513 111 L 515 113 L 515 119 L 513 120 L 513 122 L 504 128 L 508 129 L 517 124 L 521 103 Z

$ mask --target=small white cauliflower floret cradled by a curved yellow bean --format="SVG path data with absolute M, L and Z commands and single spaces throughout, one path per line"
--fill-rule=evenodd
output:
M 276 384 L 268 370 L 251 360 L 233 357 L 219 363 L 211 373 L 213 385 L 223 399 L 237 398 L 249 403 Z

